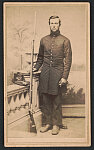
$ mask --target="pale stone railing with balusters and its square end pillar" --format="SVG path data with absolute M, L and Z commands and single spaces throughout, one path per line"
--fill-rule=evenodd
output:
M 30 86 L 20 86 L 17 84 L 9 85 L 7 87 L 7 116 L 8 125 L 29 115 L 31 113 L 39 111 L 39 74 L 36 72 L 33 74 L 33 83 L 30 98 Z

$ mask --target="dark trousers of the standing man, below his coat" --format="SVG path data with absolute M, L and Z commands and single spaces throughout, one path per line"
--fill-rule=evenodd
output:
M 62 126 L 61 95 L 42 94 L 42 113 L 45 124 Z

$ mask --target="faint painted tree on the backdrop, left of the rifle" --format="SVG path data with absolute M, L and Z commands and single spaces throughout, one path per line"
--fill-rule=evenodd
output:
M 32 40 L 31 23 L 26 21 L 24 24 L 14 25 L 10 24 L 7 39 L 10 39 L 10 47 L 12 52 L 20 56 L 20 69 L 23 69 L 23 55 L 28 49 L 31 49 Z

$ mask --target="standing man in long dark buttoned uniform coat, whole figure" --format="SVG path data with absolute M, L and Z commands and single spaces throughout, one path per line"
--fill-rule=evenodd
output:
M 58 16 L 49 18 L 50 35 L 40 41 L 39 54 L 34 71 L 43 65 L 40 79 L 39 92 L 43 96 L 43 114 L 46 125 L 40 132 L 46 132 L 51 127 L 52 134 L 59 133 L 62 124 L 61 92 L 62 85 L 67 83 L 72 51 L 68 38 L 60 34 L 61 20 Z

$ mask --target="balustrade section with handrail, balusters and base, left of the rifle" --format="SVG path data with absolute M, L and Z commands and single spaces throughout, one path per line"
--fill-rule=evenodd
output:
M 28 113 L 29 106 L 29 86 L 9 85 L 7 89 L 8 124 Z

